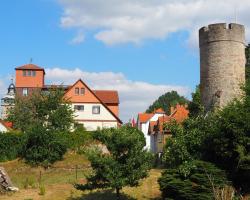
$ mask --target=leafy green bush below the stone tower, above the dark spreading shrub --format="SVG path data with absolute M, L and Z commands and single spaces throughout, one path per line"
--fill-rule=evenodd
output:
M 166 141 L 163 149 L 165 165 L 176 168 L 194 159 L 201 159 L 205 138 L 216 131 L 215 122 L 216 116 L 210 114 L 206 118 L 202 115 L 189 118 L 182 125 L 175 122 L 166 124 L 165 128 L 170 130 L 172 137 Z

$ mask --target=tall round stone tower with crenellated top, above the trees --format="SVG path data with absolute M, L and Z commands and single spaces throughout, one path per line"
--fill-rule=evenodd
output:
M 199 30 L 201 101 L 206 111 L 242 95 L 245 82 L 245 28 L 211 24 Z

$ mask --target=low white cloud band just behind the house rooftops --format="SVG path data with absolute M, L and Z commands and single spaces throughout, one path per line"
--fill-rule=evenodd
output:
M 175 85 L 156 85 L 147 82 L 128 80 L 122 73 L 85 72 L 78 68 L 67 70 L 61 68 L 46 69 L 46 78 L 56 84 L 73 84 L 81 78 L 92 89 L 117 90 L 120 97 L 120 117 L 128 121 L 138 112 L 144 112 L 160 95 L 176 90 L 179 94 L 187 96 L 189 88 Z

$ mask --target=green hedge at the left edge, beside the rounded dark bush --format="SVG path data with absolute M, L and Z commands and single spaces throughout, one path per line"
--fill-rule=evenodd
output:
M 24 135 L 22 133 L 0 133 L 0 162 L 16 159 L 23 143 Z

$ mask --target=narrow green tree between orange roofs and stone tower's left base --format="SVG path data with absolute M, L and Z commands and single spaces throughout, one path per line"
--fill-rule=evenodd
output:
M 192 93 L 192 101 L 188 103 L 189 117 L 197 117 L 204 113 L 204 107 L 201 104 L 200 86 L 196 86 L 195 92 Z

